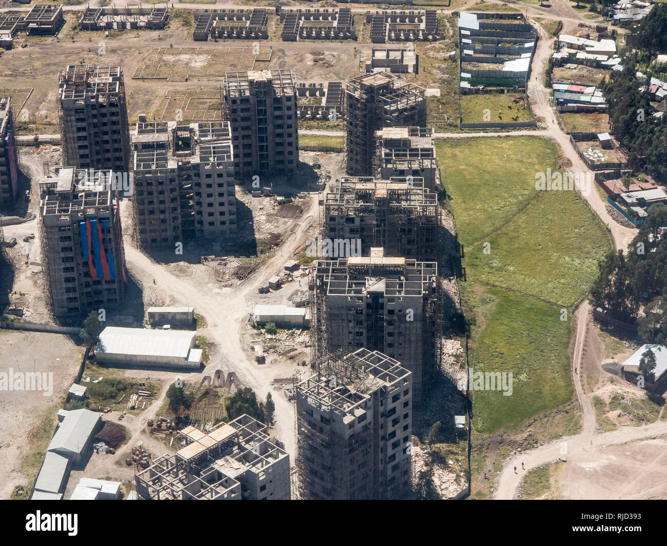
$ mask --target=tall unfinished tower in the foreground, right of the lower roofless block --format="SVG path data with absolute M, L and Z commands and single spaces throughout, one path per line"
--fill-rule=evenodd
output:
M 379 351 L 329 355 L 295 388 L 302 499 L 397 499 L 411 484 L 410 371 Z

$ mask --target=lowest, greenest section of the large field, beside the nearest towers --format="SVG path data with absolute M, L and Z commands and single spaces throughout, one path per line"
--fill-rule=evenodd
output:
M 486 306 L 488 317 L 468 355 L 475 373 L 512 373 L 512 395 L 474 391 L 473 426 L 480 433 L 516 430 L 530 417 L 572 399 L 570 322 L 558 309 L 502 289 L 475 294 L 465 287 L 468 305 Z

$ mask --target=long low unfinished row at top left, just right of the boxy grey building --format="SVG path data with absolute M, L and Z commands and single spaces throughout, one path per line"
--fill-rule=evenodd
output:
M 167 7 L 86 7 L 79 27 L 86 31 L 161 30 L 168 18 Z

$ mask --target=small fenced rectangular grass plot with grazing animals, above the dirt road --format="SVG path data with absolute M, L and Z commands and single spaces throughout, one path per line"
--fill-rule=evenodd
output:
M 532 117 L 528 100 L 523 93 L 488 93 L 461 95 L 461 121 L 462 123 L 511 123 L 532 121 Z

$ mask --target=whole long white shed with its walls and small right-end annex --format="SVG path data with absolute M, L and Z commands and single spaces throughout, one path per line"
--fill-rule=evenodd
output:
M 99 363 L 197 370 L 201 349 L 195 349 L 195 332 L 147 330 L 107 326 L 99 335 L 95 358 Z

